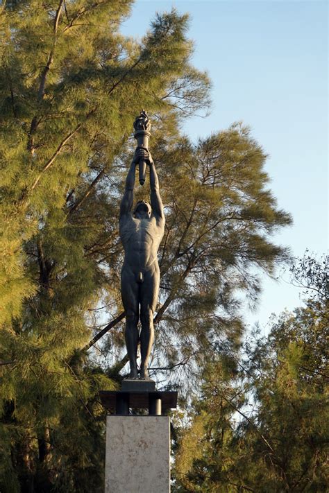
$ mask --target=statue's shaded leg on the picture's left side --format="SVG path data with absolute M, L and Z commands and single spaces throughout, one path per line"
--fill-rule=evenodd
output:
M 121 271 L 121 298 L 126 314 L 126 347 L 130 362 L 129 377 L 137 379 L 138 345 L 138 284 L 133 272 L 124 267 Z

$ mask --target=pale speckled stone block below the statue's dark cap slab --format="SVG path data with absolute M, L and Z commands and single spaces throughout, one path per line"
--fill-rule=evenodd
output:
M 170 491 L 167 416 L 108 416 L 105 493 Z

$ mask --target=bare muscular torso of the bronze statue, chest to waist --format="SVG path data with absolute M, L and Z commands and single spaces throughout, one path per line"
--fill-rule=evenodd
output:
M 154 216 L 136 219 L 126 214 L 120 220 L 120 237 L 124 245 L 124 266 L 143 271 L 158 268 L 158 248 L 164 233 Z

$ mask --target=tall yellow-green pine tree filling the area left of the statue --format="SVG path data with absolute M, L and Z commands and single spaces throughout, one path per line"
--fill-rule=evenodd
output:
M 117 243 L 119 156 L 141 107 L 177 121 L 176 98 L 181 114 L 208 104 L 208 78 L 189 64 L 187 16 L 158 15 L 137 42 L 119 33 L 130 5 L 1 8 L 4 492 L 102 487 L 97 393 L 115 383 L 81 348 L 88 313 L 112 292 L 101 258 Z

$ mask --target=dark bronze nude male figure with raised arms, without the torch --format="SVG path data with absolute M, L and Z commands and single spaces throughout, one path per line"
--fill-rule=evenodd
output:
M 144 200 L 133 208 L 135 168 L 144 159 L 150 170 L 151 206 Z M 147 379 L 148 363 L 154 340 L 153 314 L 158 302 L 160 270 L 158 248 L 165 231 L 165 215 L 159 193 L 159 180 L 151 154 L 137 148 L 126 178 L 121 200 L 119 230 L 124 245 L 121 270 L 121 297 L 126 313 L 126 347 L 130 361 L 130 378 L 137 378 L 137 344 L 142 357 L 140 377 Z M 140 315 L 142 329 L 137 325 Z

